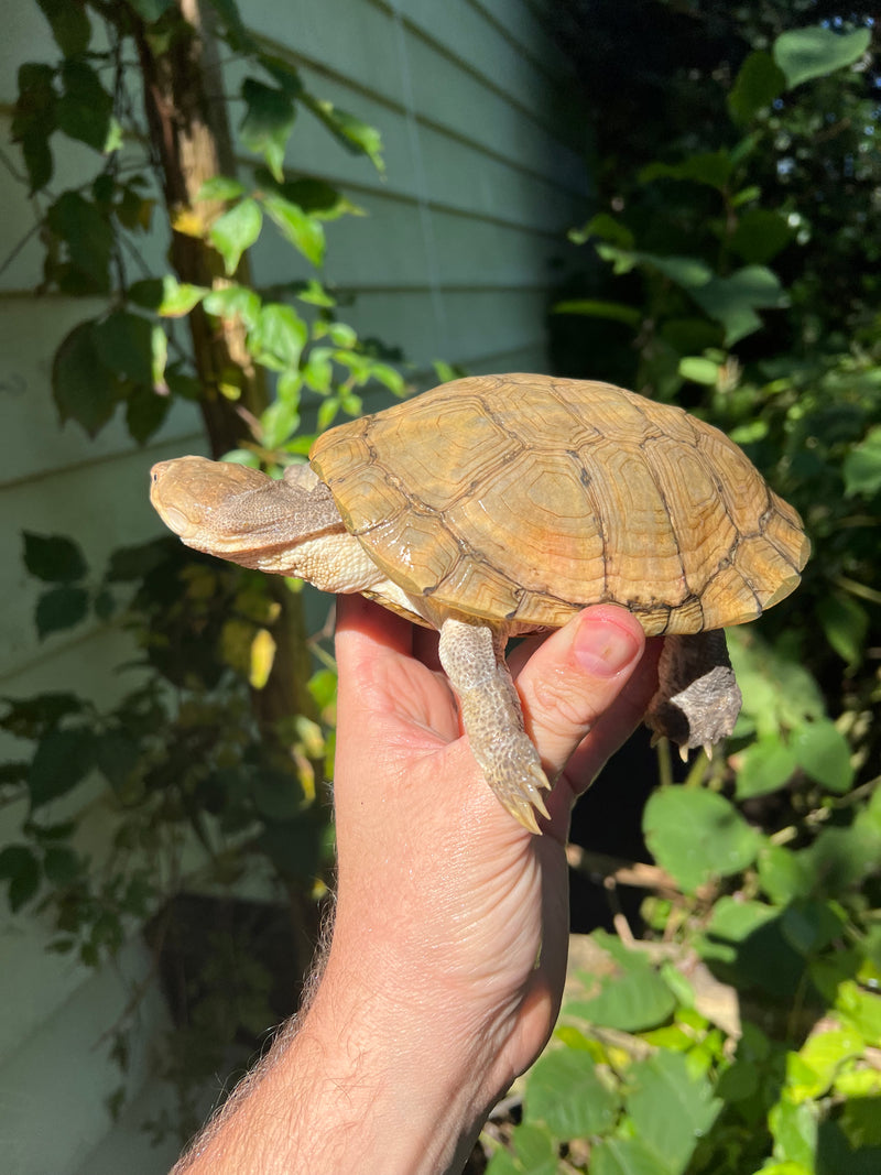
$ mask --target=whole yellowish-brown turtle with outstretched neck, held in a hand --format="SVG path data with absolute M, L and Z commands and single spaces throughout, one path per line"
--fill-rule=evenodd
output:
M 330 429 L 281 478 L 199 456 L 150 477 L 187 545 L 437 629 L 475 759 L 531 832 L 551 785 L 509 638 L 589 604 L 630 609 L 666 638 L 645 720 L 685 756 L 727 737 L 740 710 L 724 627 L 788 596 L 809 555 L 798 512 L 718 429 L 547 375 L 441 384 Z

